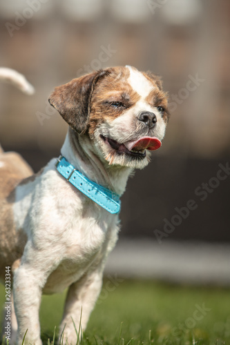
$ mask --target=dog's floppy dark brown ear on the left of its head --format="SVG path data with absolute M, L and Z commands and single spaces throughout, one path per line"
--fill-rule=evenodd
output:
M 79 133 L 86 132 L 90 115 L 90 99 L 95 83 L 106 75 L 105 70 L 99 70 L 73 79 L 69 83 L 58 86 L 50 95 L 49 102 L 67 124 Z

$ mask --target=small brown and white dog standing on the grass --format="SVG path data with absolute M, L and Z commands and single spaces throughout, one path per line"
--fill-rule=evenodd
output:
M 32 175 L 19 155 L 0 153 L 0 277 L 5 282 L 10 266 L 17 317 L 12 305 L 11 339 L 17 331 L 18 344 L 28 329 L 26 343 L 41 345 L 41 294 L 66 288 L 59 333 L 64 329 L 64 343 L 76 343 L 73 321 L 78 327 L 82 310 L 86 328 L 117 241 L 119 208 L 109 210 L 113 197 L 119 205 L 128 176 L 148 164 L 169 119 L 160 79 L 131 66 L 73 79 L 55 88 L 49 101 L 69 125 L 61 148 L 68 175 L 57 170 L 62 158 Z M 71 182 L 75 172 L 86 177 L 86 188 L 92 181 L 95 199 L 87 195 L 90 188 L 82 193 L 82 183 L 76 188 Z M 97 195 L 105 204 L 108 199 L 107 209 Z

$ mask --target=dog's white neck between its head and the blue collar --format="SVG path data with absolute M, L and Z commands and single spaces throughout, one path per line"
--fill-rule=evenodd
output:
M 128 177 L 133 172 L 132 168 L 109 166 L 97 155 L 88 135 L 78 135 L 71 128 L 68 129 L 61 155 L 88 179 L 113 190 L 118 195 L 124 193 Z

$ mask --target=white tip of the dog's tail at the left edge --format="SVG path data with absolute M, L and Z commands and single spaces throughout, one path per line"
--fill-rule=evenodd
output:
M 12 70 L 11 68 L 0 68 L 0 79 L 12 83 L 27 95 L 35 93 L 35 88 L 16 70 Z

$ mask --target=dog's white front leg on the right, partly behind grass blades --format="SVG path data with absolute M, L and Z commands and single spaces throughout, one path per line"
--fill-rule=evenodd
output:
M 101 288 L 102 270 L 84 275 L 82 279 L 69 287 L 64 308 L 64 315 L 59 327 L 60 344 L 62 344 L 62 342 L 64 342 L 64 344 L 76 344 L 77 334 L 75 327 L 78 332 L 81 313 L 82 320 L 80 329 L 81 331 L 84 331 Z

